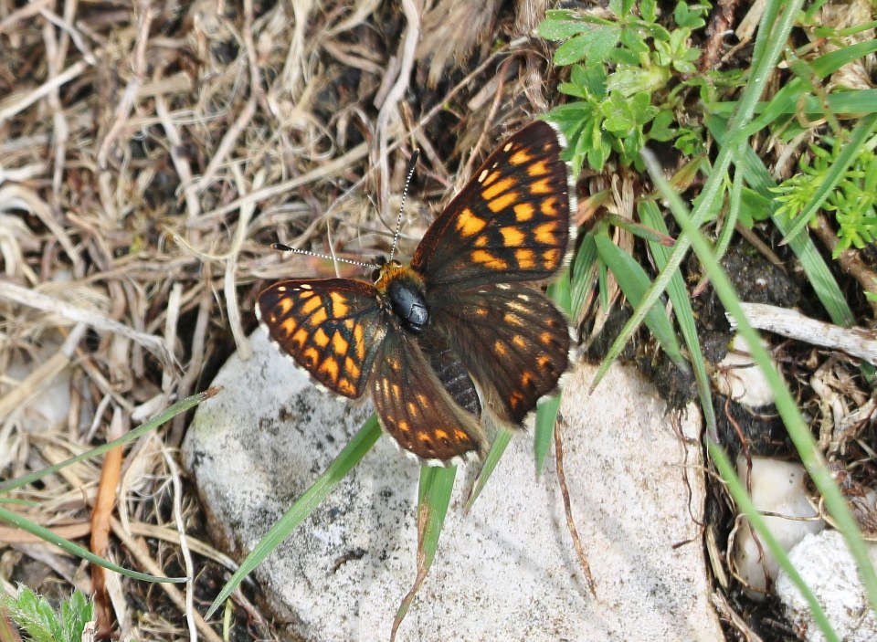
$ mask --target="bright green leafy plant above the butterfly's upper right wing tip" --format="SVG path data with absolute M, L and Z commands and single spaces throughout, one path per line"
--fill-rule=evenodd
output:
M 701 51 L 689 41 L 692 30 L 703 26 L 707 8 L 680 2 L 673 30 L 657 23 L 654 0 L 611 0 L 612 19 L 548 12 L 539 33 L 564 40 L 555 64 L 572 66 L 569 81 L 557 89 L 578 99 L 550 111 L 548 118 L 564 130 L 576 172 L 584 163 L 603 169 L 613 153 L 622 165 L 641 169 L 639 150 L 648 142 L 677 140 L 687 153 L 702 148 L 700 133 L 682 126 L 675 112 L 686 77 L 697 72 Z M 673 79 L 680 82 L 671 86 Z

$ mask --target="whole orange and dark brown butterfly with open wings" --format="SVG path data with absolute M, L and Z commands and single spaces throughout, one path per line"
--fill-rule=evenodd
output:
M 398 445 L 430 465 L 481 457 L 481 405 L 522 426 L 569 366 L 564 315 L 528 282 L 564 265 L 575 186 L 560 132 L 503 142 L 428 228 L 410 265 L 374 282 L 292 279 L 259 295 L 280 349 L 319 384 L 368 390 Z

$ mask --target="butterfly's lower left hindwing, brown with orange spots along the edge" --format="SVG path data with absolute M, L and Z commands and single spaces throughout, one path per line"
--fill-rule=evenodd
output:
M 387 330 L 372 386 L 381 425 L 417 458 L 444 465 L 483 454 L 481 424 L 451 399 L 413 335 Z

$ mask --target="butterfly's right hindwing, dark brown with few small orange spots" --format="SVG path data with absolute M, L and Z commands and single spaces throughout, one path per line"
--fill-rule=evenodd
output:
M 428 333 L 450 349 L 479 384 L 494 416 L 520 426 L 569 366 L 569 326 L 542 292 L 518 283 L 440 289 Z

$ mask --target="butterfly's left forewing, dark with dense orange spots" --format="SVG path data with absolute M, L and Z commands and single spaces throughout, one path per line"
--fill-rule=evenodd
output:
M 374 285 L 280 281 L 259 294 L 256 314 L 280 350 L 318 383 L 346 397 L 363 394 L 387 328 Z

